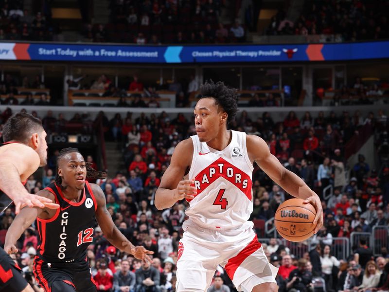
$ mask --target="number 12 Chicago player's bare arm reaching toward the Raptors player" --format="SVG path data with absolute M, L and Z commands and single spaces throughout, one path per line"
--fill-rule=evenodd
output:
M 97 202 L 97 210 L 95 213 L 96 220 L 106 239 L 119 250 L 133 255 L 136 258 L 151 262 L 148 255 L 152 255 L 154 252 L 146 250 L 143 246 L 134 246 L 123 233 L 120 232 L 106 209 L 106 197 L 104 196 L 103 190 L 95 183 L 91 183 L 90 186 Z

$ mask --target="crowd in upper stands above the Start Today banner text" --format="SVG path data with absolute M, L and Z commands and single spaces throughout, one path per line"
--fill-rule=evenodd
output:
M 221 0 L 110 1 L 107 24 L 88 24 L 82 34 L 87 41 L 159 43 L 227 43 L 245 41 L 238 20 L 232 25 L 218 21 Z

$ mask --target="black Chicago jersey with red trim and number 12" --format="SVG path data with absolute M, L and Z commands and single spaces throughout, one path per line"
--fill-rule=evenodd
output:
M 96 226 L 96 199 L 85 182 L 79 202 L 69 201 L 56 183 L 45 188 L 59 204 L 51 219 L 37 219 L 39 246 L 37 256 L 50 263 L 85 261 L 86 250 L 92 242 Z

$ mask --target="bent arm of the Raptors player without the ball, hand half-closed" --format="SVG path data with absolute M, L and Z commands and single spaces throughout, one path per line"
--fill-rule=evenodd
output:
M 172 207 L 182 199 L 193 199 L 196 194 L 194 181 L 182 180 L 185 170 L 192 162 L 192 139 L 186 139 L 177 144 L 170 165 L 162 176 L 161 183 L 155 194 L 155 206 L 158 210 Z

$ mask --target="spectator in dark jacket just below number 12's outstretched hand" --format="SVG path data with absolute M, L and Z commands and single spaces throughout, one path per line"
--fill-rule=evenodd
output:
M 136 270 L 135 277 L 135 292 L 159 292 L 159 271 L 150 266 L 148 261 L 141 263 L 141 268 Z

